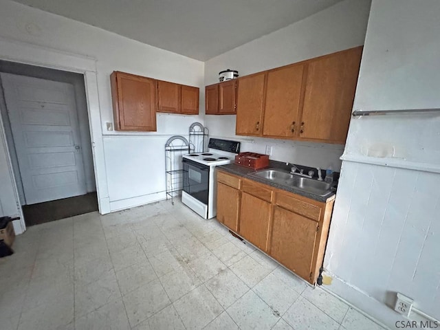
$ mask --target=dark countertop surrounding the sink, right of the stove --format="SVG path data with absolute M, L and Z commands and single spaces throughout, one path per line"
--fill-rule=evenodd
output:
M 326 203 L 327 201 L 331 201 L 332 199 L 335 199 L 335 197 L 336 197 L 336 194 L 334 192 L 329 192 L 325 196 L 320 196 L 320 195 L 315 195 L 312 192 L 307 192 L 303 189 L 296 188 L 294 186 L 292 186 L 292 187 L 282 186 L 281 184 L 276 184 L 272 181 L 267 181 L 267 180 L 261 179 L 259 177 L 253 177 L 248 174 L 253 173 L 256 170 L 254 170 L 253 168 L 247 168 L 244 166 L 236 165 L 234 163 L 228 164 L 228 165 L 221 165 L 221 166 L 218 166 L 217 168 L 224 170 L 225 172 L 228 172 L 228 173 L 231 173 L 234 175 L 238 175 L 239 177 L 245 177 L 246 179 L 254 180 L 254 181 L 260 182 L 261 184 L 266 184 L 267 186 L 272 186 L 274 188 L 278 188 L 278 189 L 285 190 L 288 192 L 293 192 L 296 195 L 307 197 L 309 199 L 314 199 L 315 201 L 322 201 L 322 202 Z M 289 170 L 289 166 L 286 166 L 285 163 L 276 162 L 276 161 L 272 161 L 272 160 L 270 160 L 270 165 L 268 168 L 280 168 L 280 169 L 287 170 L 287 171 Z M 261 168 L 260 170 L 263 170 L 263 168 Z

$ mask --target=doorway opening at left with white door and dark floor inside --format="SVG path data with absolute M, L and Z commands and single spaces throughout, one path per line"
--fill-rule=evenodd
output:
M 0 80 L 26 225 L 98 210 L 83 74 L 0 61 Z

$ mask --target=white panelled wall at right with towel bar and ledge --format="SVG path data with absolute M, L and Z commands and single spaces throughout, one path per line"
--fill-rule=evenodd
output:
M 440 108 L 440 2 L 373 0 L 355 109 Z M 440 114 L 352 119 L 328 288 L 395 327 L 395 292 L 440 319 Z

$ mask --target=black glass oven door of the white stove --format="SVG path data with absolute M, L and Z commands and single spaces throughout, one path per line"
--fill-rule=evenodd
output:
M 209 196 L 209 166 L 182 159 L 184 170 L 183 190 L 201 203 L 208 205 Z

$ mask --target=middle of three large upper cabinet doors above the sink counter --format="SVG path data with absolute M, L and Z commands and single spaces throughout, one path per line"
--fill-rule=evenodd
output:
M 293 137 L 299 127 L 304 65 L 289 65 L 267 72 L 263 135 Z

